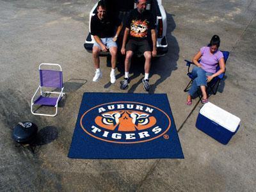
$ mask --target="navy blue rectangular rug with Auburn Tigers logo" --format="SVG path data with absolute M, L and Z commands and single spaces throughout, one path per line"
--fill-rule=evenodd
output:
M 184 158 L 167 95 L 84 93 L 68 157 Z

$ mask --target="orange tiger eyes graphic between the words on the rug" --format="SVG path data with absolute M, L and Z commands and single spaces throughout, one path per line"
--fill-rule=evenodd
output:
M 111 131 L 138 131 L 156 124 L 156 118 L 140 111 L 111 111 L 95 118 L 95 123 Z

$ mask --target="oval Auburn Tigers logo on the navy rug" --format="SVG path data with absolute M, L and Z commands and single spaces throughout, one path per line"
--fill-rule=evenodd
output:
M 97 140 L 141 143 L 155 140 L 170 129 L 170 117 L 161 109 L 139 102 L 111 102 L 86 111 L 82 129 Z

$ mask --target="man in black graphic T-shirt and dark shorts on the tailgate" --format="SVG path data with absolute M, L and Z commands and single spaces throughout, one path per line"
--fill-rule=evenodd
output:
M 131 66 L 131 58 L 134 51 L 139 51 L 145 56 L 145 77 L 142 79 L 143 88 L 146 92 L 149 91 L 150 84 L 148 76 L 150 72 L 151 58 L 156 56 L 156 26 L 152 13 L 146 10 L 147 0 L 138 0 L 137 8 L 132 10 L 128 17 L 125 25 L 125 32 L 123 38 L 123 44 L 121 52 L 125 54 L 125 78 L 121 82 L 121 89 L 125 90 L 128 88 L 130 83 L 129 69 Z M 151 38 L 153 42 L 153 50 L 151 51 L 150 45 L 148 44 L 148 32 L 151 32 Z M 125 47 L 127 38 L 129 40 Z

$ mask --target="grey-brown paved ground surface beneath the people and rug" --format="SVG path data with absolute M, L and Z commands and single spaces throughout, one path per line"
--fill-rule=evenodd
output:
M 0 191 L 255 191 L 256 1 L 163 1 L 169 52 L 153 62 L 150 93 L 167 93 L 185 159 L 68 159 L 84 92 L 144 93 L 140 63 L 132 66 L 128 90 L 119 88 L 123 63 L 116 83 L 109 83 L 106 57 L 103 78 L 92 82 L 92 54 L 83 43 L 95 3 L 0 1 Z M 214 34 L 230 56 L 225 81 L 209 100 L 241 118 L 228 145 L 196 129 L 202 104 L 196 98 L 186 106 L 183 92 L 189 81 L 184 59 Z M 30 113 L 40 63 L 63 68 L 67 95 L 54 118 Z M 39 127 L 35 154 L 12 140 L 13 127 L 25 120 Z

